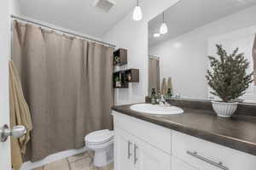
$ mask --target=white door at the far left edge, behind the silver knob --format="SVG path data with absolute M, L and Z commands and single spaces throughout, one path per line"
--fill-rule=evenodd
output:
M 9 124 L 9 1 L 0 3 L 0 127 Z M 0 142 L 0 169 L 10 169 L 9 140 Z

